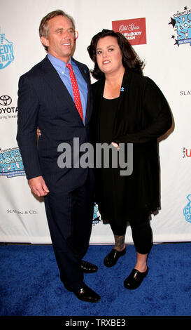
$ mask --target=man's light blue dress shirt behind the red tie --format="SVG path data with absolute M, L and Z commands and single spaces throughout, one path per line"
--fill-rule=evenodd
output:
M 73 98 L 73 89 L 71 86 L 71 79 L 69 75 L 69 69 L 66 67 L 66 63 L 62 60 L 59 60 L 59 58 L 55 58 L 55 56 L 52 56 L 48 53 L 48 60 L 52 63 L 53 67 L 55 67 L 55 70 L 59 74 L 59 77 L 62 79 L 62 82 L 66 86 L 67 90 L 69 91 L 71 97 Z M 78 65 L 74 63 L 71 58 L 69 60 L 69 63 L 72 66 L 73 72 L 75 74 L 78 88 L 80 91 L 80 99 L 83 107 L 83 122 L 85 123 L 85 112 L 86 112 L 86 104 L 87 104 L 87 83 L 83 79 L 82 74 L 80 73 L 80 70 L 78 69 Z M 74 102 L 74 98 L 73 98 Z

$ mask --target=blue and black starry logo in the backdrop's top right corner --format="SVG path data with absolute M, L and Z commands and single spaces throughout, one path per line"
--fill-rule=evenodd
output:
M 171 36 L 176 42 L 174 45 L 178 47 L 183 44 L 190 44 L 191 46 L 191 9 L 187 6 L 184 7 L 183 11 L 177 12 L 171 17 L 171 22 L 174 32 Z

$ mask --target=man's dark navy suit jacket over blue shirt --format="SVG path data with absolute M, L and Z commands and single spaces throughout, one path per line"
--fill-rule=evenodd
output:
M 22 75 L 18 90 L 17 143 L 27 179 L 43 176 L 52 192 L 71 191 L 85 183 L 88 169 L 64 168 L 57 165 L 60 143 L 71 145 L 79 138 L 79 145 L 89 142 L 89 123 L 92 114 L 90 72 L 77 62 L 87 82 L 87 108 L 85 124 L 80 119 L 71 95 L 47 57 Z M 41 136 L 36 146 L 36 127 Z

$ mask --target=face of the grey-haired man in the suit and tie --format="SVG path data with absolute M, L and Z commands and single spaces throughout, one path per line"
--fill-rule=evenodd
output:
M 69 18 L 59 15 L 48 21 L 48 38 L 41 37 L 41 42 L 48 47 L 48 53 L 69 62 L 74 42 L 74 30 Z

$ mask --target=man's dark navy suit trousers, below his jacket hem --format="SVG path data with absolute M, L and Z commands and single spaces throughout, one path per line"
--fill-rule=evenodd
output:
M 71 192 L 45 196 L 52 246 L 60 278 L 69 291 L 84 286 L 80 263 L 90 242 L 93 218 L 92 183 Z

